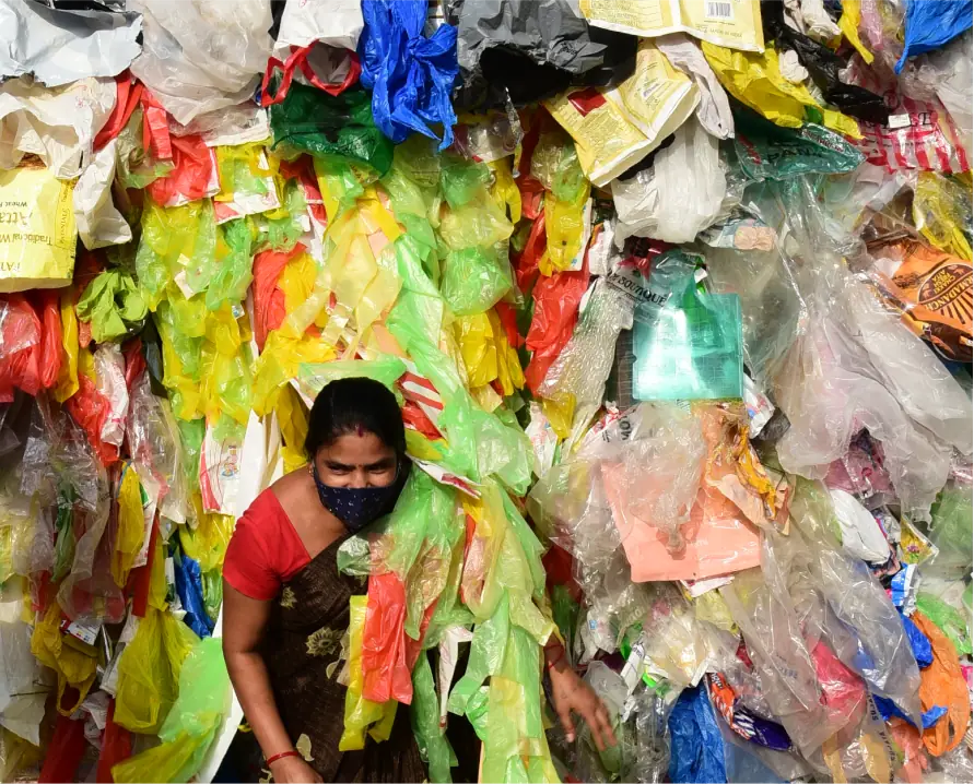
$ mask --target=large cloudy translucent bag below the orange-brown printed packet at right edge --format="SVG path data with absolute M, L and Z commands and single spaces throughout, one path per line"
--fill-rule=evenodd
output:
M 925 519 L 947 482 L 950 448 L 974 451 L 961 425 L 971 401 L 862 284 L 840 281 L 834 304 L 811 320 L 777 376 L 776 400 L 791 423 L 778 456 L 789 473 L 822 478 L 865 426 L 882 441 L 904 510 Z

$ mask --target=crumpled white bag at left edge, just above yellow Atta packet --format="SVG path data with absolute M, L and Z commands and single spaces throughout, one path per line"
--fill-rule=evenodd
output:
M 37 155 L 58 179 L 81 174 L 92 142 L 115 108 L 115 81 L 83 79 L 64 87 L 43 87 L 30 76 L 0 91 L 0 169 L 24 155 Z

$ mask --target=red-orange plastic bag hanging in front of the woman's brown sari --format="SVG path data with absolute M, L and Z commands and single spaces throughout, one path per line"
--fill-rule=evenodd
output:
M 392 572 L 368 578 L 368 609 L 362 634 L 362 694 L 373 702 L 412 702 L 406 662 L 406 586 Z

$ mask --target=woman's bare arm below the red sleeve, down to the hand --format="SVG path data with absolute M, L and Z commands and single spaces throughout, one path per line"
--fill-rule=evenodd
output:
M 266 759 L 294 749 L 274 703 L 267 665 L 259 652 L 269 616 L 270 602 L 245 596 L 223 581 L 223 658 L 244 715 Z M 273 764 L 273 772 L 275 782 L 321 781 L 300 757 L 282 758 Z

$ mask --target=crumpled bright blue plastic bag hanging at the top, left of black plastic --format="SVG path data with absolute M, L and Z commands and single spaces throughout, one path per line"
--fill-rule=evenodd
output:
M 427 123 L 442 123 L 445 150 L 457 121 L 450 104 L 459 71 L 457 28 L 444 24 L 426 38 L 424 0 L 363 0 L 362 16 L 360 81 L 372 91 L 376 126 L 398 144 L 413 131 L 437 139 Z

